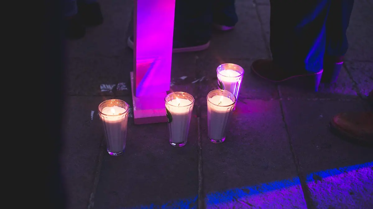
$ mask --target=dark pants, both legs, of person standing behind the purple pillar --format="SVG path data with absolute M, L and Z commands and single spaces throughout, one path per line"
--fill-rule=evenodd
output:
M 174 39 L 208 41 L 211 25 L 234 26 L 238 22 L 234 0 L 176 0 Z

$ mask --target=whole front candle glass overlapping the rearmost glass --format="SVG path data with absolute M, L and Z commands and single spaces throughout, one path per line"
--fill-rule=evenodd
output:
M 210 141 L 225 140 L 229 118 L 236 105 L 236 96 L 227 90 L 213 90 L 207 94 L 207 129 Z

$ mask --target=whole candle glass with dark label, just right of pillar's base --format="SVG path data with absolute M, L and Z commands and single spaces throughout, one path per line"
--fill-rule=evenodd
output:
M 182 147 L 188 140 L 194 98 L 191 94 L 176 91 L 168 94 L 164 102 L 168 118 L 170 144 L 175 147 Z

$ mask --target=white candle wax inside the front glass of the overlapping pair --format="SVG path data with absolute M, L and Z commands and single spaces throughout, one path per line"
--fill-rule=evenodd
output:
M 207 121 L 209 123 L 208 135 L 210 139 L 221 140 L 225 138 L 225 129 L 231 114 L 233 101 L 225 96 L 215 95 L 207 103 Z M 223 107 L 228 106 L 228 107 Z

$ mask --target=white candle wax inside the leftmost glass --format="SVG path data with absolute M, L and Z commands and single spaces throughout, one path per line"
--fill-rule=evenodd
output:
M 127 122 L 126 109 L 119 106 L 104 107 L 101 110 L 104 129 L 107 134 L 107 148 L 111 152 L 120 152 L 126 146 Z

